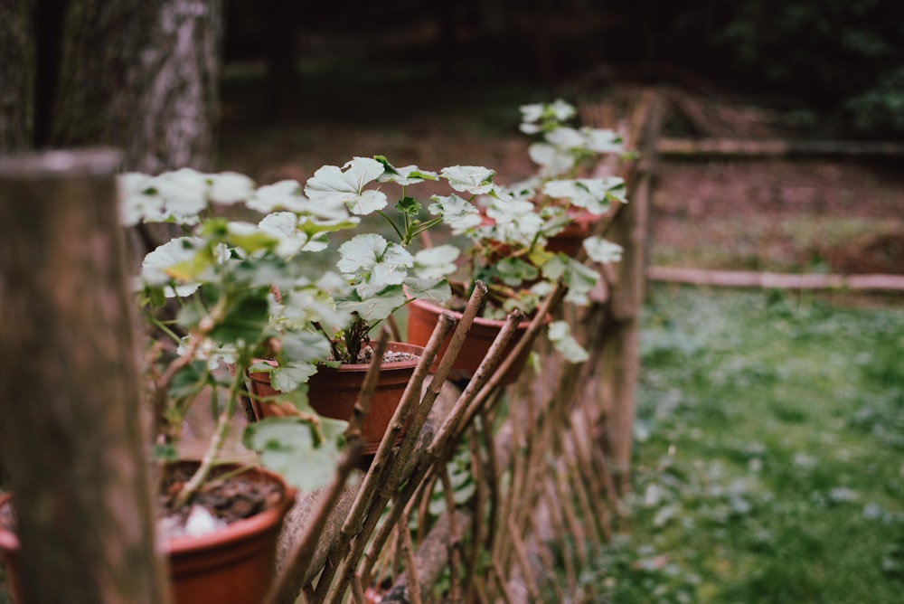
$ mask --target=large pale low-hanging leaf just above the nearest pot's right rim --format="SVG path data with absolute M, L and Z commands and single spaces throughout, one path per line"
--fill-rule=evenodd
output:
M 320 420 L 325 441 L 317 443 L 314 428 L 299 418 L 268 418 L 250 423 L 242 442 L 258 451 L 260 463 L 299 490 L 328 485 L 335 474 L 344 421 Z M 319 445 L 319 446 L 318 446 Z

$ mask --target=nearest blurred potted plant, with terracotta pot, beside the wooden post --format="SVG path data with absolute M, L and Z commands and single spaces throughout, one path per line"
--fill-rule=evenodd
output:
M 259 450 L 260 464 L 224 463 L 221 448 L 245 394 L 244 371 L 252 359 L 291 355 L 297 361 L 326 354 L 322 338 L 283 319 L 340 320 L 332 316 L 338 311 L 331 296 L 342 288 L 342 279 L 306 278 L 299 254 L 322 249 L 326 233 L 355 221 L 313 204 L 287 209 L 297 223 L 291 235 L 278 228 L 279 220 L 290 218 L 280 212 L 258 224 L 230 220 L 223 215 L 230 206 L 269 212 L 292 198 L 284 184 L 255 188 L 247 177 L 229 173 L 132 174 L 123 175 L 121 184 L 127 225 L 174 222 L 185 231 L 146 256 L 137 287 L 154 336 L 146 375 L 165 511 L 159 532 L 175 601 L 256 603 L 275 571 L 278 532 L 296 489 L 332 478 L 345 424 L 313 412 L 254 424 L 244 442 Z M 273 285 L 292 293 L 278 307 Z M 178 310 L 174 318 L 161 319 L 156 309 L 167 300 L 176 301 Z M 229 364 L 237 371 L 230 373 Z M 201 459 L 180 459 L 184 416 L 204 400 L 216 418 L 206 450 Z M 11 509 L 6 502 L 5 514 Z M 10 529 L 0 529 L 0 547 L 14 559 L 18 543 Z

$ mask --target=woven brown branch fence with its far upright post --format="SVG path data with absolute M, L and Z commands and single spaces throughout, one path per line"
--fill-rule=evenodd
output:
M 565 292 L 553 291 L 527 335 L 502 357 L 522 318 L 510 316 L 466 383 L 446 376 L 483 291 L 476 290 L 460 321 L 442 316 L 366 473 L 346 484 L 356 473 L 351 447 L 333 485 L 290 514 L 268 601 L 593 600 L 581 571 L 626 522 L 618 495 L 630 459 L 647 207 L 662 111 L 652 90 L 620 102 L 586 104 L 581 112 L 585 123 L 618 124 L 627 146 L 639 151 L 639 159 L 598 166 L 628 184 L 631 203 L 598 224 L 598 234 L 623 246 L 622 262 L 599 267 L 589 307 L 563 305 Z M 570 321 L 589 362 L 565 363 L 536 338 L 548 315 Z M 430 375 L 449 331 L 447 354 Z M 532 346 L 533 363 L 518 382 L 500 385 L 523 346 Z

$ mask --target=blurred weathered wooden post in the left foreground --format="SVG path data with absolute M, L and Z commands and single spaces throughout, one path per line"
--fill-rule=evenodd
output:
M 169 600 L 112 150 L 0 157 L 0 447 L 28 602 Z

